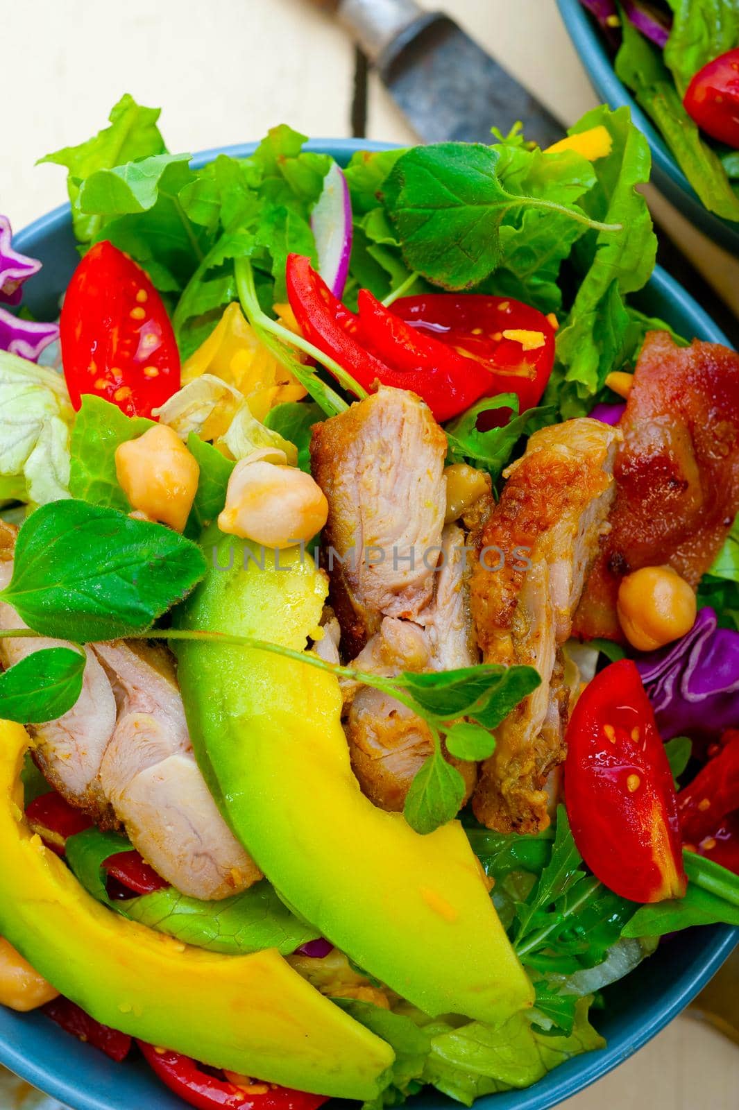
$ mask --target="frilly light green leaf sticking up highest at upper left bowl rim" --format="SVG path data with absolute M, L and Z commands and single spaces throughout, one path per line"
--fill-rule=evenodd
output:
M 90 215 L 80 208 L 81 182 L 95 170 L 163 154 L 164 140 L 156 127 L 159 115 L 159 108 L 143 108 L 125 93 L 111 110 L 109 128 L 79 147 L 64 147 L 39 160 L 68 168 L 67 189 L 72 203 L 72 225 L 80 242 L 90 242 L 102 226 L 100 215 Z

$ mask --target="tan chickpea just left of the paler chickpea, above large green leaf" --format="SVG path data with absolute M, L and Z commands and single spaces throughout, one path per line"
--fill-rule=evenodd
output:
M 182 532 L 198 492 L 200 466 L 173 428 L 156 424 L 138 440 L 120 444 L 115 473 L 132 508 Z

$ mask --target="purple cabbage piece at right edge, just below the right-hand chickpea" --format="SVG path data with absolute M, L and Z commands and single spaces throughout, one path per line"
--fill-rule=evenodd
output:
M 710 607 L 687 636 L 640 656 L 637 667 L 664 740 L 712 740 L 739 727 L 739 632 L 719 628 Z

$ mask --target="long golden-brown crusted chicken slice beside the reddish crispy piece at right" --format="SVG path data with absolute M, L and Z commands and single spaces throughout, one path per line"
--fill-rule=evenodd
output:
M 565 756 L 569 698 L 559 646 L 614 497 L 619 440 L 588 418 L 536 432 L 478 536 L 470 599 L 484 662 L 528 664 L 541 676 L 497 729 L 473 797 L 478 820 L 502 833 L 549 823 L 544 786 Z M 505 566 L 493 569 L 500 557 Z

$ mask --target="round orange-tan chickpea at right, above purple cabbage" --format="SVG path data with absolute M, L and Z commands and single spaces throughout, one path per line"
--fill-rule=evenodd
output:
M 671 566 L 644 566 L 621 582 L 617 609 L 629 644 L 652 652 L 690 632 L 696 595 Z

